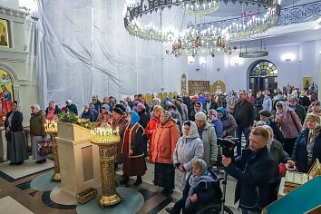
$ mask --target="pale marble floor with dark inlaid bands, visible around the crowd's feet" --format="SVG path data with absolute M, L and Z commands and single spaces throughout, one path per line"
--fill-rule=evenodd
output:
M 148 170 L 142 178 L 143 183 L 139 187 L 132 185 L 135 178 L 130 181 L 129 188 L 139 191 L 144 198 L 144 204 L 138 213 L 166 213 L 165 208 L 172 206 L 177 199 L 180 199 L 180 191 L 175 190 L 169 198 L 162 196 L 160 194 L 161 188 L 152 184 L 153 165 L 147 163 L 147 167 Z M 35 178 L 39 178 L 40 175 L 46 177 L 45 174 L 52 172 L 52 160 L 47 160 L 42 165 L 36 164 L 32 157 L 21 166 L 9 166 L 8 161 L 0 163 L 0 213 L 77 213 L 75 205 L 62 205 L 53 202 L 54 199 L 50 198 L 50 190 L 34 190 L 32 188 L 32 181 Z M 119 168 L 116 180 L 122 179 L 121 174 L 122 169 Z M 238 213 L 237 205 L 233 204 L 235 185 L 234 180 L 228 180 L 226 205 L 234 213 Z M 107 210 L 106 213 L 108 213 Z

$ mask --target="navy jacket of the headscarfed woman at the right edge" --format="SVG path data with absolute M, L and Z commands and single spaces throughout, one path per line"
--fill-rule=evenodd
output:
M 308 132 L 309 130 L 306 128 L 298 134 L 292 153 L 292 160 L 296 161 L 297 170 L 301 172 L 306 172 L 310 168 L 310 166 L 307 165 L 306 151 Z M 321 160 L 321 134 L 316 137 L 311 163 L 316 159 Z

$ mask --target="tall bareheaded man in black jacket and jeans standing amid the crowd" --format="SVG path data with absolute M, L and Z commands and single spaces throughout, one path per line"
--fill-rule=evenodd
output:
M 234 118 L 238 124 L 237 138 L 238 138 L 238 155 L 241 154 L 241 138 L 244 133 L 245 140 L 248 142 L 248 134 L 254 122 L 254 107 L 252 102 L 246 100 L 247 94 L 245 92 L 238 93 L 239 101 L 234 107 Z

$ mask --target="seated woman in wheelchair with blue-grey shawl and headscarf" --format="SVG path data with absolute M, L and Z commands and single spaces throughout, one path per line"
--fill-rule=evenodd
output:
M 172 214 L 194 214 L 210 203 L 219 203 L 222 192 L 219 189 L 217 177 L 207 169 L 206 162 L 201 159 L 191 161 L 193 170 L 186 182 L 183 196 L 174 207 L 167 208 L 166 211 Z

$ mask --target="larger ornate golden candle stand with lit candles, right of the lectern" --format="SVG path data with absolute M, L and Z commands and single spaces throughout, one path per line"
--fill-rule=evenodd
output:
M 102 208 L 122 201 L 122 197 L 116 192 L 114 172 L 115 146 L 120 140 L 119 131 L 113 131 L 111 126 L 91 131 L 91 142 L 99 147 L 102 178 L 99 203 Z

